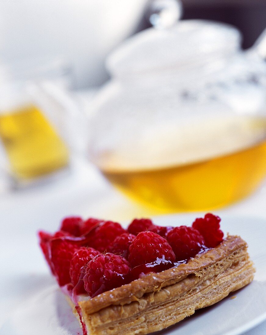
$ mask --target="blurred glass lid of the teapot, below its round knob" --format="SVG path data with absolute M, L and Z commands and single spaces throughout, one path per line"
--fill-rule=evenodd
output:
M 171 27 L 151 27 L 129 38 L 108 57 L 106 66 L 111 74 L 120 77 L 198 67 L 213 57 L 235 54 L 240 44 L 241 34 L 233 26 L 207 20 L 181 20 Z

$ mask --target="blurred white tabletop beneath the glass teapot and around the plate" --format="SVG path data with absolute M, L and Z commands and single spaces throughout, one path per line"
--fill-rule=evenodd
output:
M 37 251 L 36 231 L 39 228 L 54 231 L 61 218 L 67 215 L 95 216 L 121 222 L 129 221 L 133 217 L 158 214 L 132 203 L 117 192 L 84 158 L 76 158 L 74 162 L 64 175 L 53 182 L 46 181 L 41 185 L 23 188 L 0 197 L 0 256 L 1 260 L 4 259 L 0 274 L 0 327 L 8 317 L 10 308 L 20 304 L 33 290 L 32 286 L 27 287 L 22 282 L 23 278 L 27 278 L 29 272 L 47 274 L 46 265 L 43 260 L 40 261 L 40 253 Z M 250 198 L 216 210 L 215 213 L 221 217 L 223 214 L 245 215 L 259 216 L 266 220 L 266 184 Z M 23 255 L 25 244 L 38 256 L 31 253 L 28 256 Z M 19 250 L 22 255 L 17 257 Z M 28 261 L 23 264 L 26 257 Z M 38 263 L 37 267 L 35 263 Z M 39 285 L 36 282 L 33 284 Z M 265 333 L 266 322 L 245 334 Z

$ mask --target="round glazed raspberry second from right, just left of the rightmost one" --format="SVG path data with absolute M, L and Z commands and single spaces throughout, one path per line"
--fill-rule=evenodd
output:
M 187 226 L 173 228 L 167 235 L 177 261 L 194 257 L 204 245 L 199 231 Z

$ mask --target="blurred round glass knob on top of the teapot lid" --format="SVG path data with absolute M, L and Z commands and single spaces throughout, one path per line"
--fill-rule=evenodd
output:
M 167 29 L 176 24 L 182 15 L 182 4 L 179 0 L 153 0 L 146 16 L 154 28 Z

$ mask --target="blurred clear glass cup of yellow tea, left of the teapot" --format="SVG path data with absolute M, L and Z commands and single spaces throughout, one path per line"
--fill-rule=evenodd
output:
M 2 69 L 1 167 L 10 186 L 28 185 L 68 166 L 69 111 L 62 102 L 68 68 L 63 60 L 35 59 Z

